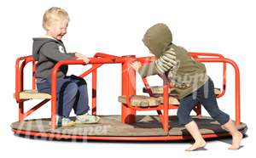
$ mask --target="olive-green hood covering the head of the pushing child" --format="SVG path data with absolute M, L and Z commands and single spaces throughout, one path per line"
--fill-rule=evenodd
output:
M 146 31 L 143 42 L 152 54 L 160 57 L 172 44 L 172 32 L 165 24 L 153 25 Z

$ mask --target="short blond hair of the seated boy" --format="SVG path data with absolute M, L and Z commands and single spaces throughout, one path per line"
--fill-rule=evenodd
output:
M 69 16 L 67 11 L 63 8 L 52 7 L 45 11 L 43 18 L 44 30 L 48 30 L 49 25 L 52 25 L 55 21 L 67 20 L 69 21 Z

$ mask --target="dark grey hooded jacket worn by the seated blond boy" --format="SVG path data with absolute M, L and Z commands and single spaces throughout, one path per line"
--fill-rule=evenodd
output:
M 75 59 L 73 54 L 67 54 L 63 42 L 46 38 L 33 38 L 32 56 L 37 61 L 36 78 L 37 82 L 50 81 L 51 71 L 58 61 L 63 59 Z M 61 66 L 57 72 L 57 77 L 67 75 L 67 65 Z

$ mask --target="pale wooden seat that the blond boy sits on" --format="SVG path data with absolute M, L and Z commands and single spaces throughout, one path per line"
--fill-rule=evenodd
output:
M 24 90 L 20 92 L 20 99 L 51 99 L 49 93 L 38 93 L 38 90 Z

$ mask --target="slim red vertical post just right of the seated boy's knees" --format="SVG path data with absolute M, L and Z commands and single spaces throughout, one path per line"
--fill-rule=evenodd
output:
M 91 106 L 92 106 L 92 115 L 96 116 L 96 83 L 97 83 L 97 69 L 92 71 L 92 99 L 91 99 Z

